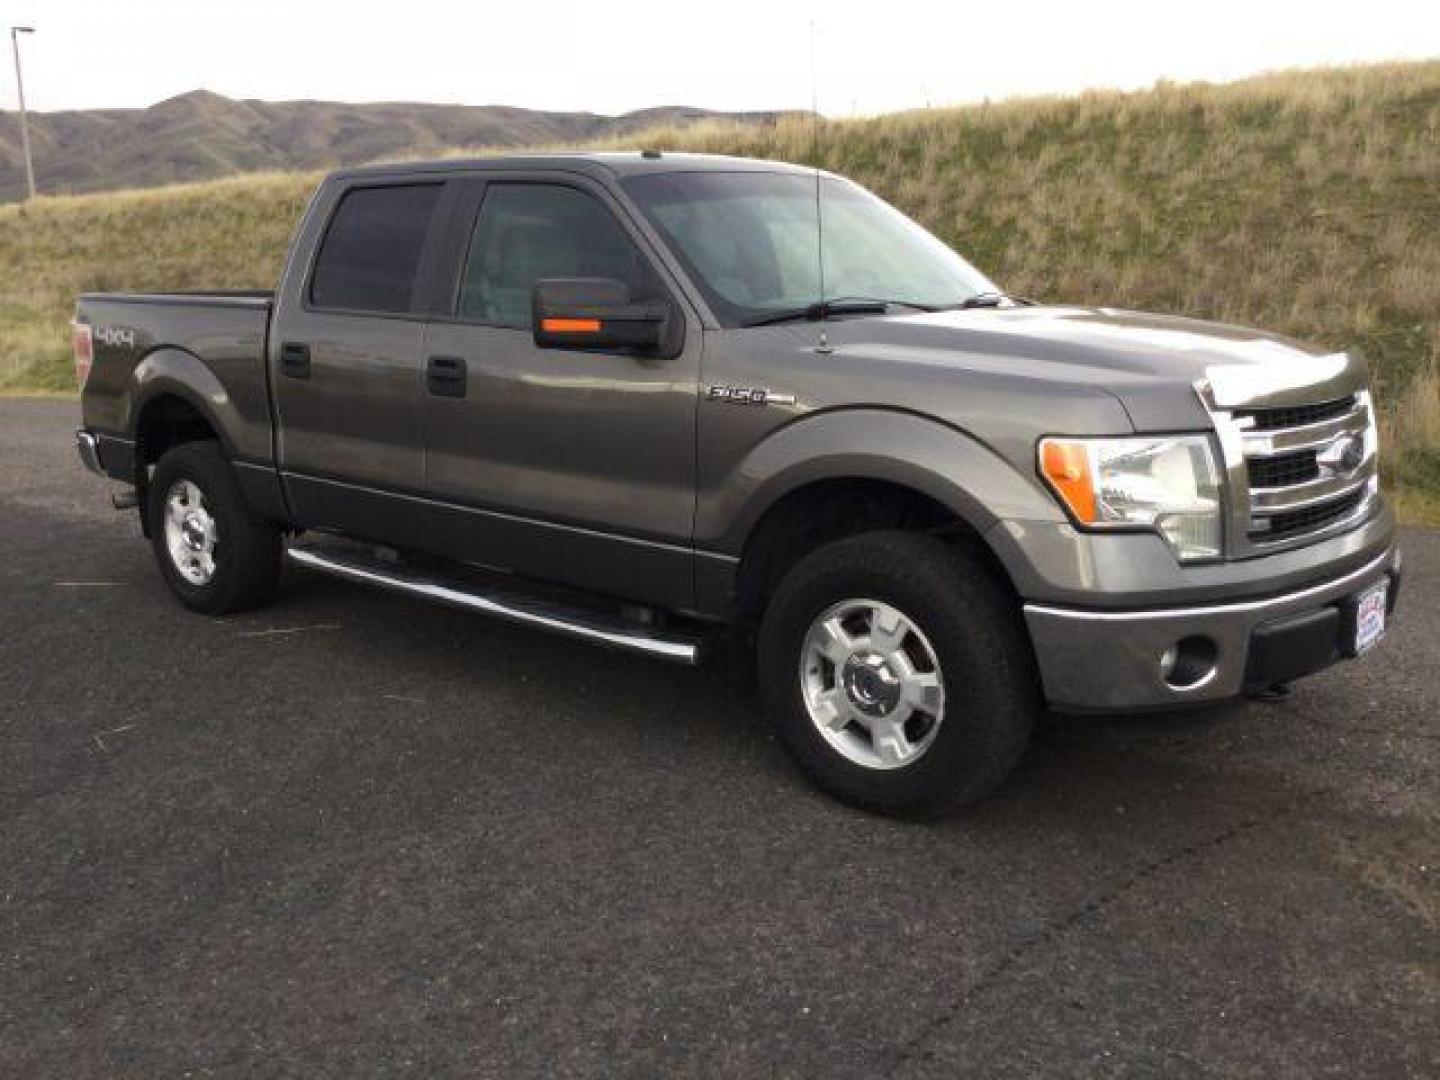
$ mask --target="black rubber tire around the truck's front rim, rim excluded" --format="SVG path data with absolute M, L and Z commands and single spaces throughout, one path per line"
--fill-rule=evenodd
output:
M 943 720 L 909 765 L 852 762 L 806 708 L 806 634 L 852 598 L 903 612 L 937 660 Z M 785 749 L 822 791 L 884 814 L 935 816 L 988 795 L 1020 760 L 1043 707 L 1014 596 L 976 553 L 926 534 L 865 533 L 812 552 L 772 596 L 759 645 L 760 690 Z

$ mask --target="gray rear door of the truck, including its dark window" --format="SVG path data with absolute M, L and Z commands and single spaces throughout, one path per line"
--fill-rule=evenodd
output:
M 423 487 L 420 346 L 445 212 L 444 179 L 387 179 L 330 193 L 311 215 L 318 252 L 308 274 L 287 275 L 271 337 L 279 467 L 305 527 L 406 540 L 403 500 Z

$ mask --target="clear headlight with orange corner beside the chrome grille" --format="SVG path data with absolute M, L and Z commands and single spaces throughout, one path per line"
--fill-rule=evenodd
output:
M 1153 528 L 1182 563 L 1220 556 L 1220 474 L 1204 435 L 1041 439 L 1040 475 L 1081 526 Z

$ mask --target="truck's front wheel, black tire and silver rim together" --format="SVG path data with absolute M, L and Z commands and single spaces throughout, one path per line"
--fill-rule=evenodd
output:
M 801 769 L 890 814 L 986 795 L 1041 707 L 1014 598 L 972 553 L 916 533 L 867 533 L 801 560 L 766 608 L 759 668 Z

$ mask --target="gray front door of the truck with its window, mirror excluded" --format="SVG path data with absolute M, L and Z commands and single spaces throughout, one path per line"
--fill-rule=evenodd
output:
M 423 344 L 425 484 L 451 511 L 449 553 L 691 605 L 698 324 L 671 359 L 537 348 L 541 278 L 619 279 L 635 300 L 674 289 L 599 186 L 475 183 L 455 305 Z

